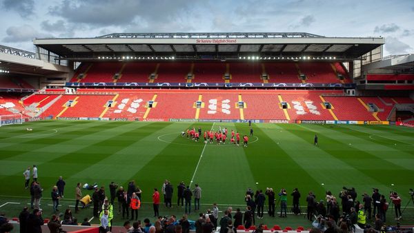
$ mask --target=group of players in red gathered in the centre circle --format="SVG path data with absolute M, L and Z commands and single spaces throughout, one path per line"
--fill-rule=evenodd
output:
M 227 136 L 227 128 L 221 129 L 219 128 L 218 131 L 214 132 L 213 130 L 205 130 L 204 131 L 204 143 L 213 143 L 215 140 L 217 145 L 220 145 L 220 143 L 226 144 L 226 139 L 228 139 Z M 198 128 L 196 130 L 195 128 L 188 128 L 186 132 L 181 132 L 181 136 L 187 136 L 188 139 L 192 139 L 193 141 L 199 141 L 199 138 L 201 136 L 201 128 Z M 247 147 L 248 143 L 248 136 L 245 134 L 243 136 L 243 146 Z M 231 137 L 230 137 L 230 144 L 240 145 L 240 134 L 239 132 L 234 132 L 234 130 L 231 130 Z

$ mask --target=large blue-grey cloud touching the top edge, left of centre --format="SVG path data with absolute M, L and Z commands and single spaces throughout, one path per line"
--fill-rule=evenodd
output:
M 92 27 L 129 26 L 137 21 L 149 25 L 168 27 L 179 12 L 190 7 L 185 0 L 135 1 L 135 0 L 63 0 L 50 6 L 48 12 L 62 17 L 69 23 L 84 23 Z

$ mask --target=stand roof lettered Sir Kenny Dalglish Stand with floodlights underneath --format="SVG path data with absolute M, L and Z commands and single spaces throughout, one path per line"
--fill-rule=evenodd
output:
M 95 38 L 34 39 L 39 48 L 75 61 L 148 56 L 191 60 L 310 56 L 352 60 L 383 44 L 381 37 L 322 37 L 305 32 L 115 33 Z

